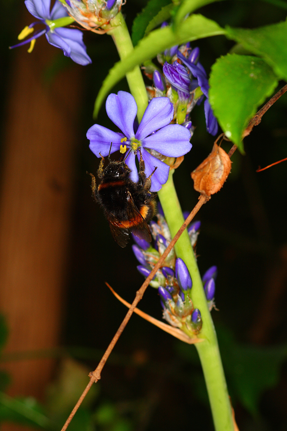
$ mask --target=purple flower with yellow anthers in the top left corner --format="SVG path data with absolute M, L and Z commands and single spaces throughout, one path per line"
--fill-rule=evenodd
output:
M 33 31 L 33 26 L 35 24 L 44 24 L 45 28 L 10 48 L 24 45 L 46 34 L 48 42 L 57 48 L 61 48 L 64 51 L 64 55 L 71 57 L 75 63 L 85 66 L 92 62 L 86 53 L 86 47 L 83 43 L 83 34 L 80 30 L 63 27 L 55 28 L 55 21 L 57 19 L 69 16 L 65 7 L 58 0 L 56 0 L 51 12 L 51 0 L 26 0 L 25 4 L 29 12 L 38 19 L 38 21 L 33 22 L 25 29 L 28 30 L 26 34 L 28 35 Z M 48 21 L 54 21 L 54 25 L 50 27 Z M 33 45 L 31 45 L 30 49 L 32 50 L 32 48 Z M 29 50 L 29 52 L 31 51 Z

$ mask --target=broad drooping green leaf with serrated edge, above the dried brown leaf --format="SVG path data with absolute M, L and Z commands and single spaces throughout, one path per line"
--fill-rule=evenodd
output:
M 242 133 L 277 86 L 272 69 L 253 56 L 228 54 L 212 67 L 209 99 L 223 132 L 243 153 Z

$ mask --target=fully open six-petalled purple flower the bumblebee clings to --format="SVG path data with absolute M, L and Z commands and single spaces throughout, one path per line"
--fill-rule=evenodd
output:
M 132 150 L 126 159 L 131 169 L 130 178 L 137 182 L 139 179 L 135 156 L 140 159 L 141 149 L 145 174 L 151 176 L 150 191 L 158 191 L 167 181 L 169 166 L 152 156 L 149 151 L 155 150 L 167 157 L 179 157 L 188 153 L 192 147 L 189 142 L 191 134 L 188 129 L 179 124 L 169 124 L 173 119 L 173 105 L 168 97 L 155 97 L 150 100 L 145 109 L 143 119 L 138 130 L 134 131 L 134 120 L 137 115 L 137 103 L 132 94 L 119 91 L 110 94 L 106 101 L 108 117 L 119 127 L 121 133 L 113 132 L 106 127 L 94 124 L 87 131 L 90 149 L 97 156 L 103 157 L 111 152 L 121 150 L 122 153 Z

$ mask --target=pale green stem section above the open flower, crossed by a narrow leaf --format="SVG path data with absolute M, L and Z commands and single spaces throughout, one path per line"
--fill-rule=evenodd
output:
M 124 60 L 134 49 L 133 42 L 122 13 L 118 13 L 110 24 L 112 26 L 109 34 L 112 36 L 117 47 L 121 60 Z M 144 85 L 144 79 L 139 66 L 127 72 L 126 78 L 131 90 L 131 93 L 136 99 L 138 105 L 138 120 L 143 118 L 145 108 L 148 103 L 147 93 Z

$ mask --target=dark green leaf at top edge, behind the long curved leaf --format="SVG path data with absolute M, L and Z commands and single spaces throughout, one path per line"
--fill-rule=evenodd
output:
M 142 12 L 136 16 L 132 28 L 132 41 L 134 46 L 137 45 L 139 40 L 144 37 L 145 29 L 150 20 L 158 14 L 162 7 L 166 5 L 169 6 L 169 10 L 174 7 L 173 3 L 171 3 L 170 0 L 149 0 Z M 163 20 L 164 19 L 165 18 L 163 18 Z

